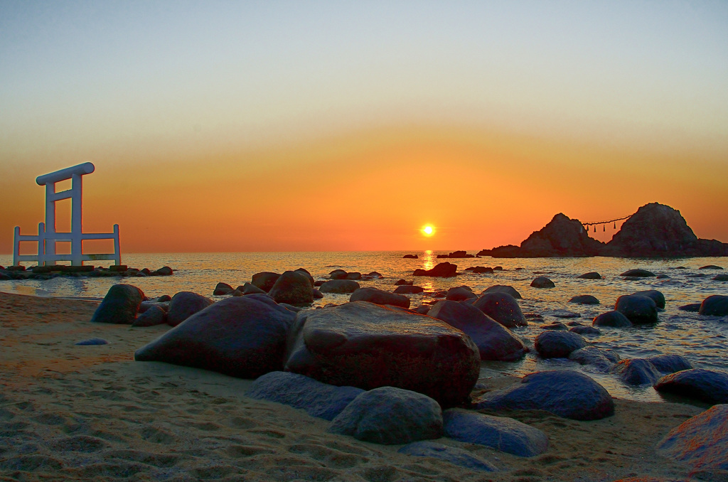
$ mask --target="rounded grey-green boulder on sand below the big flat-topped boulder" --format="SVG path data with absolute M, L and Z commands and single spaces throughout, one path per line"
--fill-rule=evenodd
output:
M 363 392 L 331 421 L 329 432 L 399 445 L 443 435 L 443 412 L 422 393 L 395 387 Z

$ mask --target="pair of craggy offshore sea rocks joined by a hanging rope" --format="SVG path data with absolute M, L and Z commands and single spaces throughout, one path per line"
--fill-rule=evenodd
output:
M 644 205 L 604 243 L 589 237 L 581 221 L 558 213 L 520 246 L 505 245 L 481 250 L 478 256 L 494 258 L 542 258 L 616 256 L 665 258 L 680 256 L 728 256 L 728 243 L 701 240 L 680 211 L 657 202 Z

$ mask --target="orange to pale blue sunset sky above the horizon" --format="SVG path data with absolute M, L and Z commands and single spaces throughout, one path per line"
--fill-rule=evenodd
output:
M 122 253 L 728 242 L 727 86 L 725 1 L 0 0 L 0 253 L 82 162 Z

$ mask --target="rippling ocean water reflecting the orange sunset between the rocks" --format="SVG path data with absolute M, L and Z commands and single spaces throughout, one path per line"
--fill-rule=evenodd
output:
M 419 259 L 404 259 L 406 253 L 419 255 Z M 670 260 L 625 258 L 461 258 L 438 259 L 436 255 L 446 251 L 384 251 L 384 252 L 314 252 L 314 253 L 167 253 L 127 254 L 122 262 L 135 268 L 157 269 L 170 266 L 175 274 L 169 277 L 130 278 L 81 278 L 57 277 L 52 280 L 0 281 L 0 291 L 34 296 L 80 297 L 102 299 L 108 288 L 115 283 L 138 286 L 149 297 L 178 291 L 194 291 L 212 299 L 218 282 L 235 288 L 250 281 L 253 274 L 262 271 L 283 272 L 303 267 L 314 279 L 328 279 L 333 269 L 347 272 L 376 271 L 383 275 L 380 280 L 360 281 L 362 286 L 374 286 L 387 291 L 395 288 L 400 278 L 414 280 L 425 293 L 408 295 L 411 306 L 432 301 L 427 292 L 446 290 L 453 286 L 467 285 L 480 293 L 491 285 L 513 285 L 523 299 L 519 302 L 524 313 L 539 313 L 543 320 L 531 320 L 529 326 L 513 331 L 533 344 L 541 332 L 539 325 L 556 321 L 547 315 L 553 309 L 567 309 L 578 313 L 576 320 L 591 324 L 602 312 L 611 310 L 617 297 L 635 291 L 655 289 L 665 295 L 665 311 L 660 312 L 660 323 L 634 328 L 600 328 L 601 336 L 585 336 L 596 347 L 616 350 L 622 358 L 646 357 L 658 354 L 678 354 L 687 357 L 697 368 L 728 371 L 728 318 L 701 317 L 697 313 L 682 312 L 678 307 L 699 303 L 707 296 L 728 295 L 728 283 L 711 280 L 717 273 L 726 271 L 703 270 L 700 266 L 715 264 L 728 269 L 728 258 L 681 258 Z M 414 269 L 430 269 L 441 261 L 457 264 L 459 275 L 454 278 L 413 277 Z M 0 265 L 12 264 L 11 256 L 0 256 Z M 464 271 L 469 266 L 502 266 L 493 274 L 474 274 Z M 517 269 L 520 268 L 520 269 Z M 628 269 L 643 268 L 669 278 L 657 280 L 644 278 L 628 281 L 620 273 Z M 579 274 L 599 272 L 601 280 L 581 280 Z M 529 285 L 537 276 L 547 276 L 555 288 L 537 289 Z M 585 306 L 569 303 L 572 296 L 596 296 L 601 304 Z M 326 294 L 314 307 L 327 303 L 343 303 L 349 295 Z M 569 320 L 562 320 L 569 321 Z M 523 376 L 533 371 L 569 369 L 582 371 L 604 385 L 613 396 L 633 400 L 662 401 L 652 387 L 630 387 L 622 384 L 613 374 L 599 374 L 589 366 L 580 366 L 570 360 L 541 360 L 533 353 L 523 360 L 512 363 L 483 362 L 481 376 L 515 374 Z

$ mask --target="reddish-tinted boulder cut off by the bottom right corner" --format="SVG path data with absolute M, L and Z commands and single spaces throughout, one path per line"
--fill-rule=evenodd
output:
M 693 473 L 728 470 L 728 405 L 712 406 L 670 430 L 657 453 L 686 463 Z M 705 480 L 725 480 L 722 474 Z

